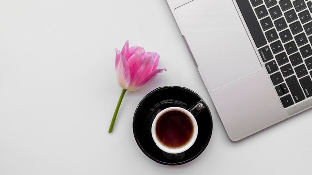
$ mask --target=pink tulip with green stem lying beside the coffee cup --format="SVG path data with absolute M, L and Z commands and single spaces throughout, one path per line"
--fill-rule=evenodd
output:
M 123 89 L 117 103 L 114 116 L 108 132 L 112 132 L 121 101 L 126 91 L 136 91 L 142 88 L 156 74 L 166 69 L 157 69 L 159 55 L 156 52 L 145 52 L 140 46 L 132 46 L 126 41 L 121 52 L 116 51 L 115 69 L 117 82 Z

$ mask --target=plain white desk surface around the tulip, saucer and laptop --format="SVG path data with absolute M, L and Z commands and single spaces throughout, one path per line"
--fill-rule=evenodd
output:
M 168 71 L 126 93 L 108 134 L 121 92 L 114 48 L 126 40 Z M 201 95 L 214 126 L 206 150 L 173 167 L 132 132 L 139 101 L 167 85 Z M 312 110 L 228 139 L 165 0 L 0 0 L 0 175 L 311 175 L 311 165 Z

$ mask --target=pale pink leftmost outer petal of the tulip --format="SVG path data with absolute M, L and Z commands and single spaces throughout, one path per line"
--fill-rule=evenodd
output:
M 127 89 L 130 83 L 130 71 L 126 58 L 116 49 L 115 60 L 116 77 L 119 86 Z

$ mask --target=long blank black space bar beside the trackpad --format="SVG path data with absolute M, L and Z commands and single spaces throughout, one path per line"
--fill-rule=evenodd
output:
M 257 48 L 267 44 L 267 40 L 264 37 L 262 29 L 259 25 L 257 17 L 250 6 L 248 0 L 236 0 L 237 5 L 245 19 L 250 34 L 255 41 Z

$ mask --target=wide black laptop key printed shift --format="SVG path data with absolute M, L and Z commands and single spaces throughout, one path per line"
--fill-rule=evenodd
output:
M 285 80 L 286 80 L 286 84 L 289 87 L 289 90 L 290 90 L 295 102 L 298 103 L 298 102 L 304 100 L 305 95 L 301 90 L 301 87 L 297 81 L 296 76 L 295 75 L 291 76 Z

